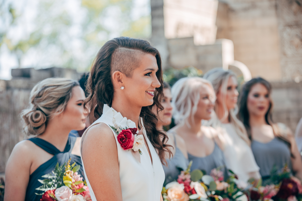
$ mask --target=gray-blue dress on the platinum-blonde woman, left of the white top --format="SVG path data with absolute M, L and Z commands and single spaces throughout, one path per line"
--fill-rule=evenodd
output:
M 210 155 L 197 157 L 188 153 L 188 158 L 189 161 L 193 161 L 191 171 L 199 169 L 204 170 L 206 174 L 210 174 L 212 169 L 222 167 L 220 170 L 224 172 L 225 178 L 227 176 L 225 158 L 222 150 L 216 143 L 214 151 Z

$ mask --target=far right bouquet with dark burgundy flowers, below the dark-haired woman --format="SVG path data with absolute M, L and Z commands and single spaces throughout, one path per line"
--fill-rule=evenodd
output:
M 249 196 L 252 201 L 302 201 L 302 185 L 299 179 L 291 176 L 287 165 L 279 174 L 274 167 L 263 186 L 252 188 Z

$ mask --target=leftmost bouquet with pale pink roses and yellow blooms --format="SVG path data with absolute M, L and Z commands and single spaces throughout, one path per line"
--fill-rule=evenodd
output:
M 42 195 L 41 201 L 88 201 L 91 200 L 89 189 L 86 181 L 78 174 L 80 165 L 73 163 L 70 165 L 70 160 L 59 166 L 57 163 L 52 174 L 46 174 L 42 177 L 45 179 L 38 180 L 42 184 L 36 190 L 41 190 L 45 193 Z M 65 166 L 65 168 L 64 168 Z M 72 168 L 72 169 L 70 169 Z

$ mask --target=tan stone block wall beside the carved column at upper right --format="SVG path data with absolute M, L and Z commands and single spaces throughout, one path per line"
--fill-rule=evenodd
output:
M 252 77 L 281 80 L 275 0 L 220 1 L 216 25 L 217 39 L 233 41 L 235 60 L 246 64 Z

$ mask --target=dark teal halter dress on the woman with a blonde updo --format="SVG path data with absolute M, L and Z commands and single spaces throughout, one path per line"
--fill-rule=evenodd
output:
M 76 162 L 76 165 L 80 165 L 80 170 L 78 171 L 79 174 L 82 176 L 83 168 L 82 168 L 82 161 L 81 157 L 77 155 L 71 154 L 72 148 L 74 144 L 76 143 L 76 137 L 68 137 L 65 149 L 63 152 L 61 152 L 59 149 L 57 149 L 55 146 L 53 146 L 51 143 L 42 140 L 41 138 L 29 138 L 27 139 L 33 143 L 35 143 L 37 146 L 39 146 L 44 151 L 50 153 L 53 155 L 51 159 L 49 159 L 47 162 L 40 165 L 30 176 L 29 181 L 26 189 L 25 194 L 25 201 L 38 201 L 42 198 L 42 195 L 36 195 L 35 193 L 43 193 L 43 191 L 36 190 L 36 188 L 40 187 L 42 184 L 38 181 L 38 179 L 45 179 L 42 176 L 45 174 L 52 174 L 52 171 L 56 167 L 56 164 L 59 163 L 59 165 L 63 165 L 65 162 L 67 162 L 71 158 L 71 164 Z

